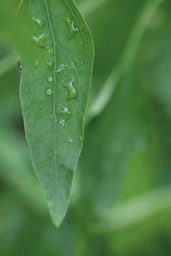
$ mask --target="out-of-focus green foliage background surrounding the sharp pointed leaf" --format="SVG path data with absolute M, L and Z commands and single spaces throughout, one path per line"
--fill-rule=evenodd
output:
M 171 1 L 76 3 L 95 63 L 83 151 L 58 230 L 31 166 L 17 55 L 0 41 L 0 255 L 170 256 Z

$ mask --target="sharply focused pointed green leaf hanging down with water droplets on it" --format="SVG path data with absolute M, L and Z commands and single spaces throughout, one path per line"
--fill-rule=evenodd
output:
M 18 50 L 26 138 L 58 227 L 83 144 L 93 40 L 72 0 L 24 0 L 18 18 L 28 31 L 29 47 Z

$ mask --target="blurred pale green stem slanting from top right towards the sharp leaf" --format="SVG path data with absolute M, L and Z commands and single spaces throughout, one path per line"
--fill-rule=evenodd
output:
M 152 17 L 162 2 L 163 0 L 149 0 L 145 3 L 145 6 L 135 22 L 135 26 L 133 26 L 133 30 L 130 33 L 123 54 L 120 56 L 118 65 L 110 72 L 108 78 L 103 83 L 98 96 L 95 98 L 90 107 L 88 107 L 85 119 L 86 125 L 88 125 L 91 119 L 97 117 L 101 112 L 103 112 L 106 105 L 108 105 L 108 102 L 110 102 L 113 92 L 115 91 L 120 78 L 125 72 L 125 69 L 133 65 L 133 60 L 135 59 L 138 47 L 140 46 L 142 36 L 147 30 Z

